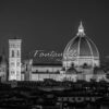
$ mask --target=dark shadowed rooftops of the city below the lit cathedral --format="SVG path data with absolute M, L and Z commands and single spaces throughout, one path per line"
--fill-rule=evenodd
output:
M 109 109 L 106 82 L 0 83 L 0 109 Z

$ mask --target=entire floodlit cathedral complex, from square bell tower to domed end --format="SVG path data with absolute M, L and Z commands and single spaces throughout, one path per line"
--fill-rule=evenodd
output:
M 22 39 L 9 39 L 9 81 L 55 81 L 84 80 L 89 82 L 105 80 L 104 71 L 95 73 L 100 68 L 99 51 L 94 41 L 87 37 L 82 22 L 77 34 L 68 43 L 61 63 L 34 63 L 33 58 L 22 59 Z

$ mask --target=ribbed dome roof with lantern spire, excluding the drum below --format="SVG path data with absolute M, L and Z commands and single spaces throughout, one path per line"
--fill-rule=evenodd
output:
M 63 59 L 72 58 L 99 58 L 99 52 L 94 41 L 86 36 L 81 22 L 76 36 L 66 45 Z

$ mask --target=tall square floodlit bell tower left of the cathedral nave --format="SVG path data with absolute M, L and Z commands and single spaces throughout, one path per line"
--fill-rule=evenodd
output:
M 22 39 L 9 39 L 9 81 L 21 81 Z

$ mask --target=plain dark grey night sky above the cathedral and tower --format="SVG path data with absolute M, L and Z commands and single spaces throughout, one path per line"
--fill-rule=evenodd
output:
M 107 0 L 108 1 L 108 0 Z M 0 48 L 23 39 L 23 56 L 35 49 L 63 51 L 83 21 L 100 56 L 109 55 L 109 3 L 105 0 L 0 0 Z

